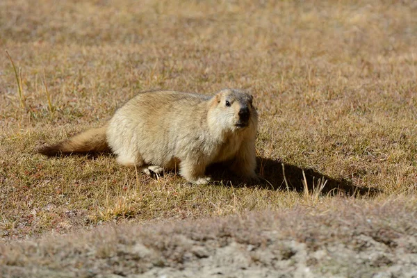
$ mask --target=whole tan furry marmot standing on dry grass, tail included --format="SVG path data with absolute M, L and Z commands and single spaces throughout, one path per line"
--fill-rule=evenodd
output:
M 40 154 L 103 152 L 146 174 L 178 169 L 191 183 L 210 181 L 212 163 L 229 163 L 245 179 L 255 174 L 258 113 L 252 95 L 224 89 L 213 97 L 186 92 L 139 93 L 120 107 L 106 126 L 38 149 Z

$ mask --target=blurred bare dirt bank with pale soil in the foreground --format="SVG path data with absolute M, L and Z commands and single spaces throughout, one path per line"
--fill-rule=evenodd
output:
M 414 202 L 335 200 L 0 245 L 1 277 L 417 277 Z

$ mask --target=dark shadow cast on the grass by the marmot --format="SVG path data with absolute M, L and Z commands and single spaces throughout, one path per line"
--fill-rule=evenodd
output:
M 257 157 L 256 162 L 258 168 L 256 172 L 261 177 L 261 188 L 270 190 L 295 190 L 297 192 L 304 191 L 304 176 L 307 182 L 307 188 L 310 191 L 318 184 L 324 183 L 322 194 L 330 195 L 347 195 L 347 196 L 375 196 L 380 193 L 376 188 L 367 188 L 354 186 L 352 181 L 348 179 L 334 179 L 325 174 L 321 174 L 313 169 L 302 168 L 296 165 L 282 163 L 279 160 L 270 158 Z M 213 176 L 215 180 L 226 180 L 226 185 L 245 184 L 236 177 L 229 177 L 227 170 L 219 165 L 213 165 L 208 168 L 208 174 Z M 245 186 L 248 186 L 247 184 Z M 256 185 L 259 186 L 259 185 Z

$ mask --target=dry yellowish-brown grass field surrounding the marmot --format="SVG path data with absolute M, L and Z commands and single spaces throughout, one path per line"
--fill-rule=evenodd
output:
M 408 219 L 416 14 L 413 1 L 0 1 L 0 238 L 248 211 L 337 218 L 340 202 L 404 206 L 389 215 Z M 262 184 L 214 169 L 220 183 L 192 186 L 108 154 L 35 153 L 103 125 L 142 90 L 227 87 L 254 95 Z

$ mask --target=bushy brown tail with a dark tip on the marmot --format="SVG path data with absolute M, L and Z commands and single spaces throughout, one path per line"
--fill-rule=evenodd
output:
M 45 156 L 56 156 L 58 154 L 84 154 L 108 151 L 106 129 L 107 126 L 98 129 L 88 129 L 55 145 L 40 147 L 38 153 Z

